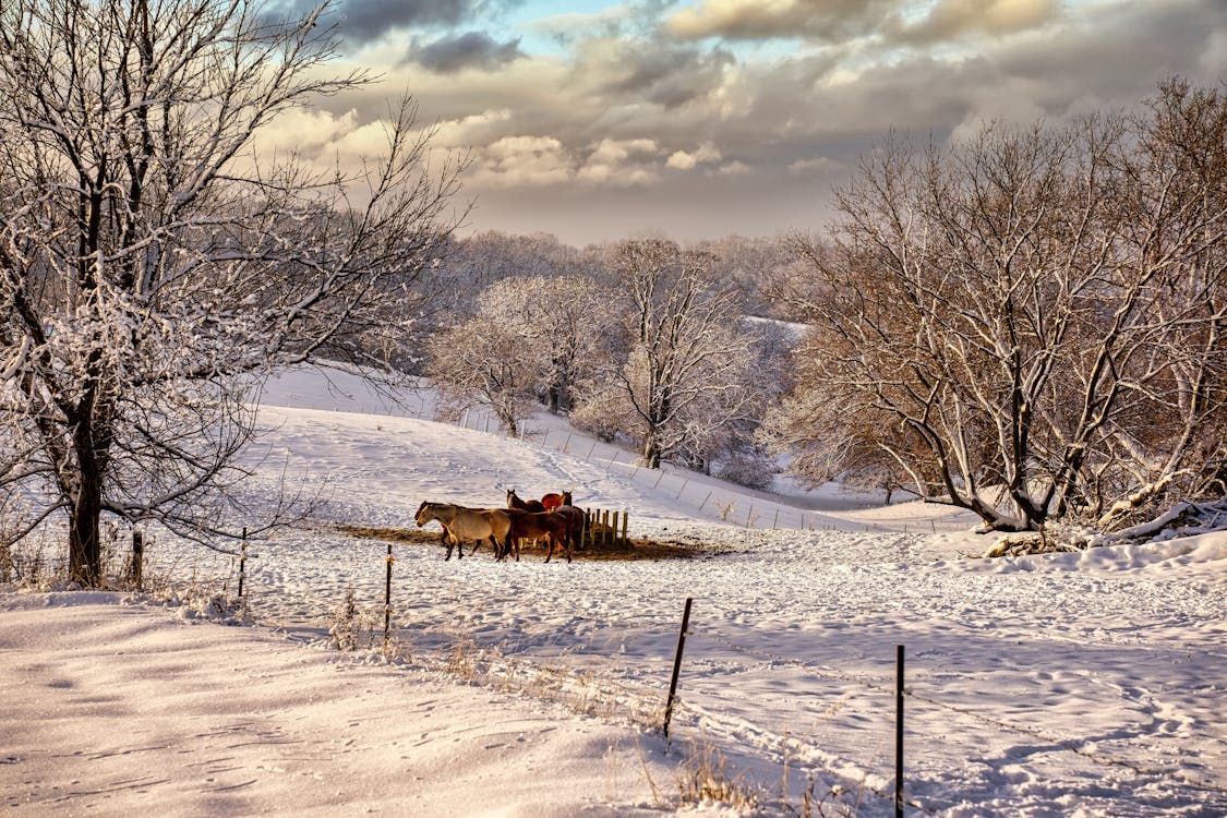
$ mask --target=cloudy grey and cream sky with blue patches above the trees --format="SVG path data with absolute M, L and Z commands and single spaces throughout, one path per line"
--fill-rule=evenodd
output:
M 307 0 L 274 0 L 282 9 Z M 364 143 L 409 92 L 469 151 L 469 231 L 572 244 L 817 231 L 892 131 L 1060 124 L 1227 78 L 1225 0 L 335 0 L 380 82 L 280 128 Z

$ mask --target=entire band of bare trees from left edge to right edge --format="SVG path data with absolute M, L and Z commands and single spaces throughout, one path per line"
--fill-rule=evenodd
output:
M 566 413 L 649 467 L 769 486 L 783 456 L 993 529 L 1223 494 L 1222 87 L 892 135 L 814 235 L 577 249 L 459 238 L 464 158 L 427 161 L 409 98 L 361 170 L 261 152 L 373 81 L 333 74 L 323 9 L 0 6 L 6 547 L 63 520 L 93 585 L 103 519 L 236 533 L 259 386 L 313 362 L 428 374 L 508 428 Z

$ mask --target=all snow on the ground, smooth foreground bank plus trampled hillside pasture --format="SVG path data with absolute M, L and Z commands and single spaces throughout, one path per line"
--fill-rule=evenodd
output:
M 897 645 L 908 814 L 1227 814 L 1227 533 L 967 559 L 990 541 L 946 506 L 648 472 L 548 416 L 523 439 L 436 423 L 425 388 L 398 405 L 298 370 L 264 403 L 255 495 L 285 471 L 323 500 L 252 545 L 254 624 L 187 597 L 0 592 L 13 814 L 800 814 L 812 782 L 814 814 L 888 816 Z M 512 487 L 704 553 L 396 543 L 394 649 L 329 646 L 351 591 L 380 641 L 387 571 L 385 541 L 336 524 L 415 529 L 423 499 Z M 229 556 L 164 538 L 148 559 L 233 595 Z M 703 752 L 757 806 L 679 803 Z

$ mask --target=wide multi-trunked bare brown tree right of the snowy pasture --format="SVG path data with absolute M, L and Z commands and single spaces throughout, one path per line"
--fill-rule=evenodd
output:
M 990 125 L 866 157 L 831 242 L 798 240 L 821 286 L 774 426 L 800 462 L 875 449 L 921 494 L 1031 529 L 1133 508 L 1221 453 L 1204 424 L 1222 417 L 1222 177 L 1177 173 L 1157 134 Z M 1221 152 L 1221 131 L 1206 143 Z M 805 433 L 816 408 L 828 423 Z

